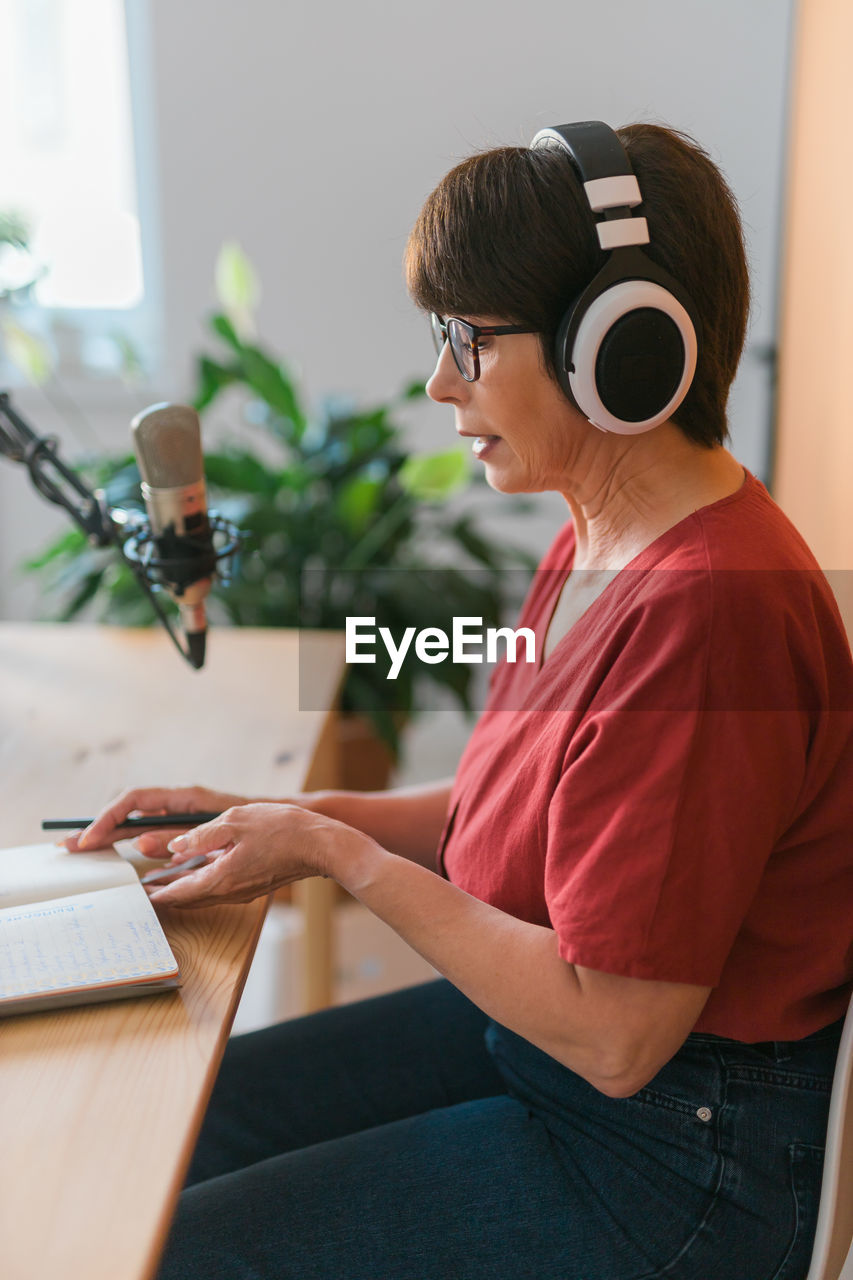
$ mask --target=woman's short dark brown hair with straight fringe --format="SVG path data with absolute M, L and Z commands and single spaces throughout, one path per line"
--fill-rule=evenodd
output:
M 749 273 L 735 198 L 711 157 L 676 129 L 617 131 L 643 193 L 647 252 L 690 294 L 702 347 L 672 421 L 711 448 L 727 435 L 726 401 L 749 315 Z M 497 147 L 442 178 L 409 239 L 411 297 L 439 315 L 488 315 L 553 343 L 564 311 L 606 261 L 580 180 L 560 151 Z

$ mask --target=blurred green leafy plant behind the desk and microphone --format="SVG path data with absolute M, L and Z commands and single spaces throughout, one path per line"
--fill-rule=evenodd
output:
M 225 251 L 224 266 L 220 257 L 219 292 L 229 305 L 210 317 L 219 349 L 199 357 L 192 397 L 204 415 L 227 388 L 245 393 L 241 439 L 205 451 L 210 506 L 246 532 L 240 572 L 214 588 L 213 616 L 238 626 L 336 630 L 347 617 L 373 616 L 394 635 L 407 626 L 450 632 L 455 616 L 498 625 L 519 581 L 506 568 L 533 561 L 487 538 L 460 509 L 455 498 L 471 480 L 459 449 L 414 456 L 406 448 L 397 417 L 424 394 L 423 384 L 366 408 L 334 399 L 310 411 L 280 358 L 247 332 L 248 273 L 236 248 Z M 93 458 L 81 470 L 110 506 L 140 506 L 132 457 Z M 127 567 L 77 530 L 27 568 L 49 575 L 63 620 L 88 608 L 111 622 L 154 621 Z M 366 717 L 393 758 L 400 724 L 425 685 L 444 686 L 471 709 L 470 667 L 403 663 L 391 682 L 380 650 L 377 657 L 375 666 L 350 668 L 342 710 Z

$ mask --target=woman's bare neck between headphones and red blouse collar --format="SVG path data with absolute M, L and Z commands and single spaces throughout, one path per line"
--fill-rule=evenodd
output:
M 575 525 L 575 567 L 628 564 L 692 512 L 735 493 L 740 463 L 722 447 L 694 444 L 670 422 L 647 435 L 590 436 L 583 479 L 561 493 Z

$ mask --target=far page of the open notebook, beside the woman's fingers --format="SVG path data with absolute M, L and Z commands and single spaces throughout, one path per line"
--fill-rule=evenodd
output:
M 0 910 L 137 879 L 133 867 L 113 849 L 91 854 L 69 854 L 49 844 L 0 849 Z

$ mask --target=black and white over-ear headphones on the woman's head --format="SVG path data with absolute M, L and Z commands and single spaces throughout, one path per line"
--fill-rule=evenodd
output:
M 533 150 L 567 154 L 608 257 L 569 306 L 555 346 L 560 385 L 605 431 L 638 435 L 666 421 L 686 396 L 701 325 L 689 294 L 640 244 L 649 243 L 639 183 L 625 148 L 601 120 L 540 129 Z

